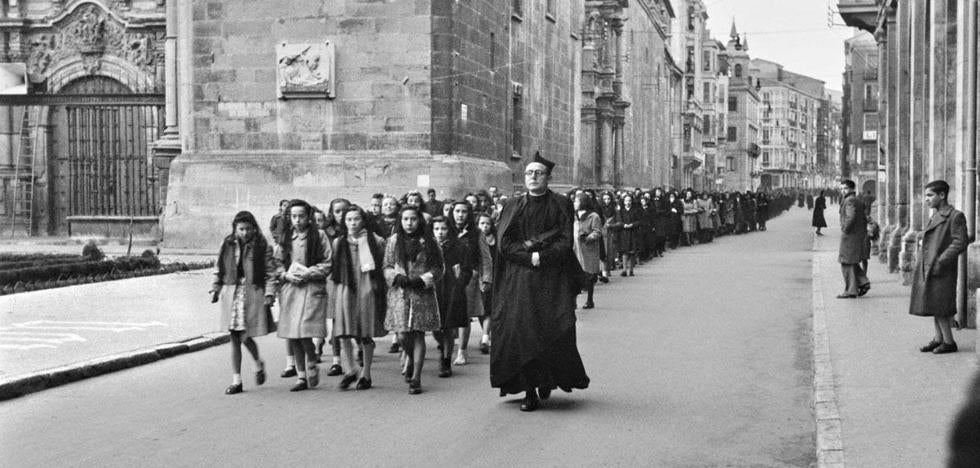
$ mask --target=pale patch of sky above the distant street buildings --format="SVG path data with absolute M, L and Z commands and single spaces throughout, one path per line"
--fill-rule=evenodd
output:
M 844 72 L 844 40 L 855 29 L 827 27 L 827 0 L 703 0 L 708 28 L 715 39 L 728 42 L 732 19 L 748 35 L 749 56 L 782 64 L 787 70 L 825 81 L 840 91 Z M 837 1 L 831 4 L 837 10 Z

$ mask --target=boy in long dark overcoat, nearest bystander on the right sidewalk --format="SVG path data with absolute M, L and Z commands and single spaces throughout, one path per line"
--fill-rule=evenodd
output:
M 949 204 L 945 181 L 929 182 L 923 198 L 932 216 L 922 232 L 921 253 L 912 270 L 909 313 L 932 317 L 936 328 L 932 341 L 920 351 L 952 353 L 957 351 L 951 323 L 956 315 L 958 260 L 970 242 L 966 216 Z

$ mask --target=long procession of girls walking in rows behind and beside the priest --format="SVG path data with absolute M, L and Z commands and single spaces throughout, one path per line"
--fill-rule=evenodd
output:
M 637 263 L 668 248 L 765 230 L 766 220 L 795 199 L 782 192 L 685 190 L 682 196 L 663 189 L 577 189 L 570 196 L 574 251 L 587 275 L 585 309 L 595 307 L 594 285 L 608 282 L 611 270 L 632 276 Z M 367 208 L 343 198 L 325 210 L 282 200 L 270 221 L 271 243 L 254 215 L 238 213 L 221 243 L 210 291 L 212 302 L 221 303 L 221 326 L 231 333 L 226 393 L 243 391 L 242 346 L 255 363 L 256 385 L 265 382 L 253 338 L 272 332 L 286 340 L 280 376 L 296 378 L 292 391 L 319 384 L 325 350 L 325 373 L 341 377 L 341 390 L 370 389 L 375 340 L 389 333 L 388 352 L 400 354 L 411 394 L 421 392 L 426 333 L 438 344 L 439 377 L 467 364 L 474 319 L 482 329 L 478 349 L 489 354 L 496 226 L 507 200 L 496 187 L 444 201 L 433 190 L 426 197 L 376 194 Z M 278 323 L 271 313 L 276 300 Z

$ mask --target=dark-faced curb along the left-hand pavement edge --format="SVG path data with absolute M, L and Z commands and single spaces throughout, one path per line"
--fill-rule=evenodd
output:
M 149 364 L 181 354 L 193 353 L 194 351 L 227 343 L 230 339 L 231 337 L 228 333 L 208 333 L 182 341 L 112 354 L 67 366 L 45 369 L 0 380 L 0 401 L 110 372 Z

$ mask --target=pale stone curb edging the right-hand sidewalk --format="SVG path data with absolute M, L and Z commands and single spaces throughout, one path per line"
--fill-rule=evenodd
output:
M 817 421 L 817 466 L 844 468 L 844 439 L 838 409 L 837 384 L 827 337 L 827 317 L 823 301 L 823 275 L 817 257 L 817 238 L 813 238 L 813 407 Z

